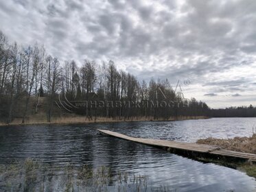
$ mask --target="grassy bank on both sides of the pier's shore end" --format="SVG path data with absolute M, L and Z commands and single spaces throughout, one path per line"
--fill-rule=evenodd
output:
M 235 137 L 234 139 L 199 139 L 196 143 L 218 145 L 224 149 L 229 149 L 236 152 L 256 154 L 256 134 L 253 134 L 253 136 L 250 137 Z M 237 163 L 235 165 L 231 165 L 231 167 L 235 167 L 240 171 L 246 172 L 248 176 L 256 178 L 256 165 L 251 162 Z

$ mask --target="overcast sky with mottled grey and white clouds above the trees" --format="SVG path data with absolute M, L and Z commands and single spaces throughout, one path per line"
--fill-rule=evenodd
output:
M 256 105 L 256 1 L 0 0 L 0 30 L 60 61 L 113 60 L 210 107 Z M 184 82 L 191 82 L 187 84 Z

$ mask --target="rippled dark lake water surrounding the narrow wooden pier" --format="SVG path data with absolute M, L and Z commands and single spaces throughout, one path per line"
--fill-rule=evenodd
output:
M 195 142 L 209 136 L 224 139 L 251 136 L 255 125 L 256 118 L 214 118 L 0 128 L 0 164 L 36 158 L 54 166 L 104 165 L 116 173 L 148 176 L 153 189 L 162 185 L 177 191 L 256 191 L 255 179 L 235 169 L 200 163 L 147 145 L 104 136 L 96 130 Z

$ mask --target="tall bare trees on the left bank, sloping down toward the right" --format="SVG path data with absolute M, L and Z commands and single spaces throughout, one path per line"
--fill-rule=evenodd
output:
M 88 118 L 127 119 L 201 116 L 209 110 L 205 103 L 176 93 L 168 80 L 139 82 L 118 71 L 113 61 L 84 60 L 81 67 L 74 60 L 60 64 L 43 47 L 10 44 L 0 32 L 0 120 L 10 123 L 19 117 L 24 123 L 38 112 L 40 98 L 47 121 L 56 108 Z

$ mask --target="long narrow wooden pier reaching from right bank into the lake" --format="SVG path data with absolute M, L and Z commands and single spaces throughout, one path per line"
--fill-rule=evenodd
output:
M 117 132 L 111 132 L 108 130 L 98 130 L 102 134 L 107 134 L 109 136 L 115 136 L 119 139 L 125 139 L 128 141 L 134 141 L 137 143 L 143 143 L 146 145 L 151 145 L 154 147 L 162 147 L 167 149 L 167 151 L 174 154 L 181 154 L 184 156 L 191 156 L 194 158 L 207 157 L 207 158 L 217 158 L 218 160 L 243 160 L 250 161 L 251 163 L 256 163 L 256 154 L 247 154 L 242 152 L 233 152 L 230 150 L 223 149 L 216 145 L 205 145 L 197 143 L 182 143 L 177 141 L 167 141 L 160 139 L 143 139 L 136 138 L 132 136 L 127 136 L 124 134 L 119 134 Z

